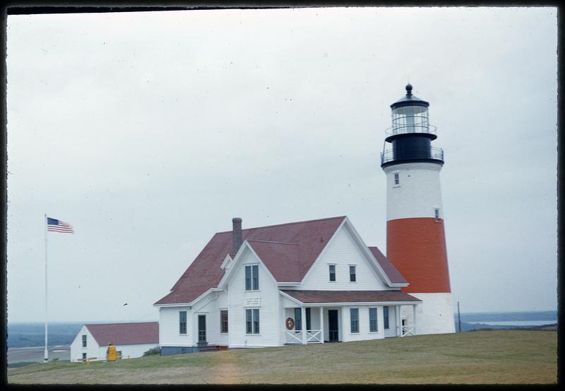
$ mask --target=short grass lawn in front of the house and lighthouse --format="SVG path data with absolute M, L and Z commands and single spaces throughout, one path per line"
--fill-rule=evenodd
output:
M 8 368 L 8 383 L 557 383 L 557 332 L 484 331 Z

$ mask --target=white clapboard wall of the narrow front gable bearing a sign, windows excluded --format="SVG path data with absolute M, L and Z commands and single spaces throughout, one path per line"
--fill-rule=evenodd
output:
M 270 276 L 265 265 L 249 248 L 242 254 L 242 262 L 238 262 L 229 284 L 229 329 L 230 347 L 244 346 L 278 346 L 280 329 L 284 326 L 279 317 L 278 286 Z M 245 291 L 245 265 L 258 264 L 259 291 Z M 246 334 L 245 300 L 259 298 L 259 334 Z M 251 308 L 251 307 L 249 307 Z

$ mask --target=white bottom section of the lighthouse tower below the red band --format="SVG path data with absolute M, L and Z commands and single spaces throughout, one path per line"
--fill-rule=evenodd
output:
M 455 332 L 451 293 L 410 293 L 422 303 L 416 307 L 416 334 L 447 334 Z M 414 325 L 412 306 L 404 305 L 400 317 Z

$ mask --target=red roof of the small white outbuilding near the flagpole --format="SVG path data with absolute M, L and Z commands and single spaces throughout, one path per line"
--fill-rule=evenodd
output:
M 100 346 L 159 343 L 159 322 L 109 323 L 85 327 Z

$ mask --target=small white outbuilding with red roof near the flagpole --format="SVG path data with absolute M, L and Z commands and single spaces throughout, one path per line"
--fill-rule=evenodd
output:
M 71 361 L 105 360 L 109 344 L 121 358 L 141 357 L 159 346 L 159 322 L 83 325 L 71 343 Z

